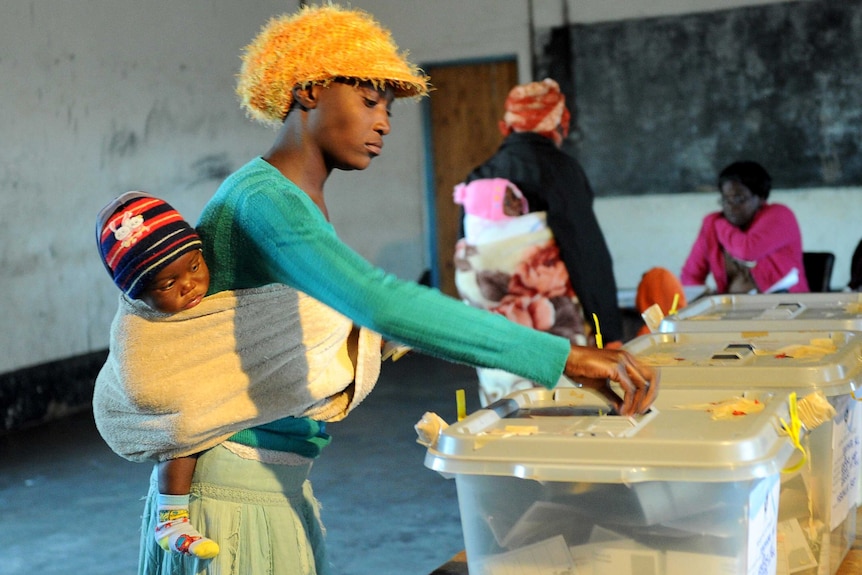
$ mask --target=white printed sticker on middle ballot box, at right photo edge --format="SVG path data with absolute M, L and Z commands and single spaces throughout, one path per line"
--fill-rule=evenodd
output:
M 834 400 L 832 420 L 832 509 L 829 530 L 844 523 L 859 491 L 862 404 L 849 395 Z

